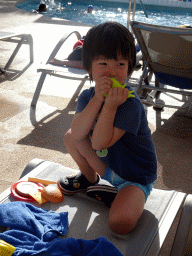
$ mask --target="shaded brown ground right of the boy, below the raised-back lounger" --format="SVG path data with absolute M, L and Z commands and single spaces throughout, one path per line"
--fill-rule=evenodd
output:
M 191 193 L 192 118 L 179 113 L 180 110 L 162 120 L 161 112 L 156 112 L 157 129 L 153 140 L 158 158 L 158 179 L 155 187 Z

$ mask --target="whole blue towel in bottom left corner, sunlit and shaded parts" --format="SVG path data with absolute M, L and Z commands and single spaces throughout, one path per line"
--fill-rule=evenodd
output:
M 95 240 L 66 238 L 68 213 L 55 213 L 24 202 L 0 205 L 0 225 L 10 227 L 0 239 L 16 247 L 13 256 L 122 256 L 105 237 Z

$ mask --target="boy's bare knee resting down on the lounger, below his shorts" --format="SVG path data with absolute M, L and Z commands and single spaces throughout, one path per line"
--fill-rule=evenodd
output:
M 117 234 L 127 234 L 140 219 L 145 204 L 144 192 L 129 186 L 121 189 L 109 211 L 109 226 Z

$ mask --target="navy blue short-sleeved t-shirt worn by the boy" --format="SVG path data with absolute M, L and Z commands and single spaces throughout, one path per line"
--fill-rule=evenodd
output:
M 81 93 L 76 113 L 87 106 L 94 93 L 94 87 Z M 121 178 L 147 185 L 157 178 L 157 159 L 143 104 L 134 95 L 117 108 L 114 119 L 114 127 L 126 133 L 113 146 L 96 153 Z

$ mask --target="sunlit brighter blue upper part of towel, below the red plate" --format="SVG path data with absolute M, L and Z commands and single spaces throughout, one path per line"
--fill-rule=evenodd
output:
M 10 227 L 9 233 L 20 231 L 30 234 L 30 239 L 50 241 L 58 234 L 66 235 L 68 213 L 47 211 L 24 202 L 0 205 L 0 225 Z

